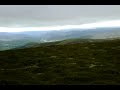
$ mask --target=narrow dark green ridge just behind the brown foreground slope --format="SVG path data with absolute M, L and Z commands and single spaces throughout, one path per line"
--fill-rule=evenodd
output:
M 114 38 L 116 39 L 116 38 Z M 108 39 L 107 39 L 108 40 Z M 61 41 L 53 41 L 53 42 L 44 42 L 44 43 L 27 43 L 24 46 L 17 47 L 15 49 L 23 49 L 23 48 L 35 48 L 35 47 L 46 47 L 51 45 L 66 45 L 66 44 L 77 44 L 77 43 L 85 43 L 85 42 L 102 42 L 107 41 L 106 39 L 81 39 L 81 38 L 74 38 L 74 39 L 65 39 Z

